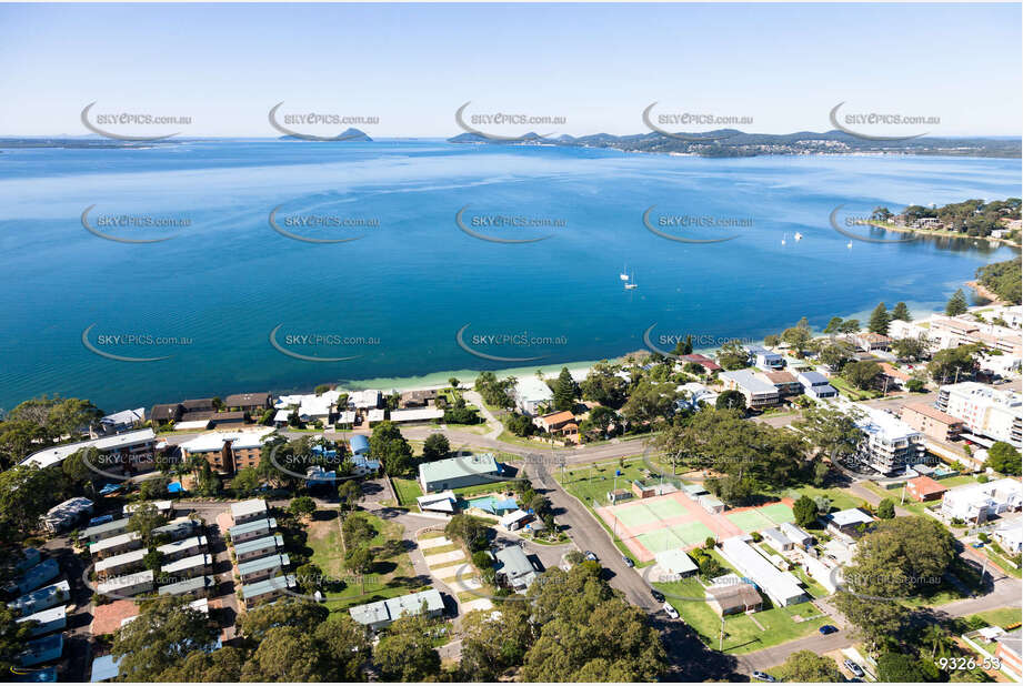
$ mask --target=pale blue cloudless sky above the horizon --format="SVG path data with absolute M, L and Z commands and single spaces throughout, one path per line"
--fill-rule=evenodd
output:
M 380 138 L 461 133 L 465 102 L 467 122 L 564 120 L 474 127 L 498 135 L 646 132 L 653 102 L 764 133 L 831 130 L 840 102 L 937 118 L 912 129 L 932 135 L 1019 135 L 1023 119 L 1020 3 L 6 4 L 0 27 L 0 135 L 88 134 L 91 102 L 202 137 L 280 135 L 279 102 L 374 117 L 358 128 Z

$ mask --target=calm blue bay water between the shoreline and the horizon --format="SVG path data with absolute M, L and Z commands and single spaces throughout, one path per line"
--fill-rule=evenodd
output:
M 117 411 L 324 382 L 389 387 L 382 380 L 619 355 L 643 347 L 653 324 L 656 344 L 692 333 L 712 346 L 879 301 L 937 309 L 977 266 L 1015 253 L 973 241 L 849 248 L 830 213 L 1005 198 L 1020 183 L 1019 160 L 704 160 L 437 141 L 2 150 L 0 407 L 43 393 Z M 92 205 L 98 232 L 172 238 L 99 238 L 82 225 Z M 738 238 L 665 240 L 643 224 L 651 205 L 653 222 L 695 218 L 663 231 Z M 292 240 L 268 221 L 274 208 L 282 231 L 359 240 Z M 478 240 L 455 223 L 463 208 L 470 231 L 545 240 Z M 490 229 L 488 218 L 539 225 Z M 140 225 L 168 220 L 178 225 Z M 735 220 L 745 225 L 706 225 Z M 623 289 L 623 269 L 639 287 Z M 463 350 L 467 325 L 468 347 L 505 360 Z M 169 357 L 101 356 L 87 330 L 101 353 Z M 274 330 L 287 351 L 349 359 L 289 356 Z

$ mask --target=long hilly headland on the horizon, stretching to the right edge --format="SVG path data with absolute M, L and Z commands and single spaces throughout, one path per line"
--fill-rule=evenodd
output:
M 474 133 L 461 133 L 448 139 L 451 143 L 487 143 L 504 145 L 564 145 L 569 148 L 611 148 L 628 152 L 661 152 L 693 154 L 704 158 L 751 158 L 763 154 L 915 154 L 971 158 L 1021 157 L 1017 138 L 915 138 L 904 141 L 872 141 L 844 131 L 798 131 L 795 133 L 745 133 L 736 129 L 720 129 L 704 133 L 686 133 L 682 140 L 651 131 L 632 135 L 594 133 L 572 137 L 541 138 L 528 133 L 521 140 L 491 140 Z

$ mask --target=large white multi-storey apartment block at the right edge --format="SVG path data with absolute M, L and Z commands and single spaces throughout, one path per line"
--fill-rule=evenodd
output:
M 970 433 L 962 437 L 985 447 L 1004 441 L 1023 446 L 1023 395 L 973 381 L 941 386 L 937 408 L 962 420 Z

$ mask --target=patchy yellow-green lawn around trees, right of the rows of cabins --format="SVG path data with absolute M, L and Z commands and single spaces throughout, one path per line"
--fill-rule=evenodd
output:
M 328 591 L 327 607 L 340 613 L 353 605 L 372 603 L 418 591 L 412 561 L 400 545 L 389 542 L 401 541 L 401 525 L 379 517 L 358 513 L 370 521 L 377 536 L 370 542 L 375 555 L 373 569 L 363 576 L 350 573 L 344 566 L 341 532 L 337 519 L 313 521 L 308 526 L 307 545 L 312 548 L 310 562 L 317 565 L 328 579 L 342 579 L 344 587 Z

